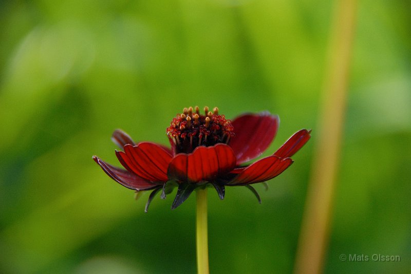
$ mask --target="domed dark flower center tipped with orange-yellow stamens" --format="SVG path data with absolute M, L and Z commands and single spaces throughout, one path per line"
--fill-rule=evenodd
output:
M 174 142 L 176 153 L 191 153 L 199 145 L 228 144 L 234 136 L 231 120 L 218 115 L 218 108 L 209 112 L 209 108 L 205 107 L 204 113 L 200 114 L 198 107 L 194 110 L 190 107 L 184 108 L 183 113 L 173 118 L 167 128 L 167 136 Z

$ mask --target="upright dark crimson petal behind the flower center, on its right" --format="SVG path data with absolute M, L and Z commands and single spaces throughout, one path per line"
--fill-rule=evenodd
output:
M 260 156 L 270 145 L 277 133 L 279 118 L 268 112 L 243 114 L 232 121 L 235 136 L 230 146 L 237 164 Z

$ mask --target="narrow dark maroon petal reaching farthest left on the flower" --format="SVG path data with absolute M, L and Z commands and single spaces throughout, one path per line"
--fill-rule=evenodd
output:
M 101 160 L 100 158 L 98 158 L 97 156 L 93 156 L 93 160 L 95 160 L 95 162 L 100 165 L 102 170 L 108 176 L 110 176 L 111 179 L 124 185 L 125 187 L 135 189 L 136 191 L 143 191 L 158 186 L 158 184 L 148 182 L 147 180 L 137 176 L 132 172 L 128 172 L 126 170 L 123 170 L 122 168 L 110 165 Z

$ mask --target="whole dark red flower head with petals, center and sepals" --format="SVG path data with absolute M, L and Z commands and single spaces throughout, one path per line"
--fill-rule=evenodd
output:
M 294 155 L 310 139 L 308 130 L 296 132 L 273 155 L 241 166 L 260 156 L 274 139 L 279 118 L 268 112 L 243 114 L 233 121 L 204 108 L 184 109 L 167 128 L 171 149 L 152 142 L 135 143 L 126 133 L 116 130 L 113 141 L 123 150 L 116 151 L 125 170 L 93 159 L 115 181 L 136 191 L 153 189 L 148 205 L 162 190 L 161 198 L 178 186 L 172 209 L 183 203 L 197 187 L 212 185 L 220 199 L 225 186 L 250 185 L 268 181 L 292 164 Z

